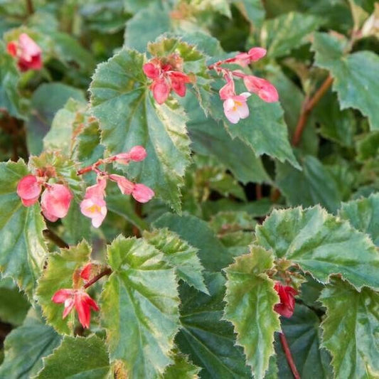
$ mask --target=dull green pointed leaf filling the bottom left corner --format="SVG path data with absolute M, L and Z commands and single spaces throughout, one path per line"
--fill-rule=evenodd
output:
M 42 358 L 52 353 L 59 343 L 60 336 L 31 309 L 23 325 L 6 336 L 0 378 L 33 377 L 42 368 Z

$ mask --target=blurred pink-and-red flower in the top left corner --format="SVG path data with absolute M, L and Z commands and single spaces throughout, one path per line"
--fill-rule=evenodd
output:
M 17 59 L 20 71 L 41 70 L 42 50 L 26 33 L 20 34 L 18 41 L 9 42 L 6 48 Z

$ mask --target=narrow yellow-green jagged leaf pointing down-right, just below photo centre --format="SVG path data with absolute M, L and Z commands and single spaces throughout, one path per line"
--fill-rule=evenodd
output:
M 144 239 L 164 253 L 164 260 L 176 269 L 178 277 L 188 285 L 208 294 L 203 278 L 203 266 L 198 258 L 198 249 L 181 240 L 176 233 L 168 229 L 145 231 Z

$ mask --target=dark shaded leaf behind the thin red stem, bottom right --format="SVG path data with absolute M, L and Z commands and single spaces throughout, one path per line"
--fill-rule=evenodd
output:
M 282 330 L 301 378 L 333 378 L 329 353 L 321 348 L 320 320 L 314 311 L 296 304 L 290 319 L 282 317 Z M 279 338 L 277 338 L 279 339 Z M 279 341 L 276 343 L 280 379 L 294 378 Z

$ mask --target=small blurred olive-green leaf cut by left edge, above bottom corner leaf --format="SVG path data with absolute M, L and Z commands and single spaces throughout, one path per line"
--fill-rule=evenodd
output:
M 0 279 L 0 320 L 20 325 L 31 304 L 11 278 Z

